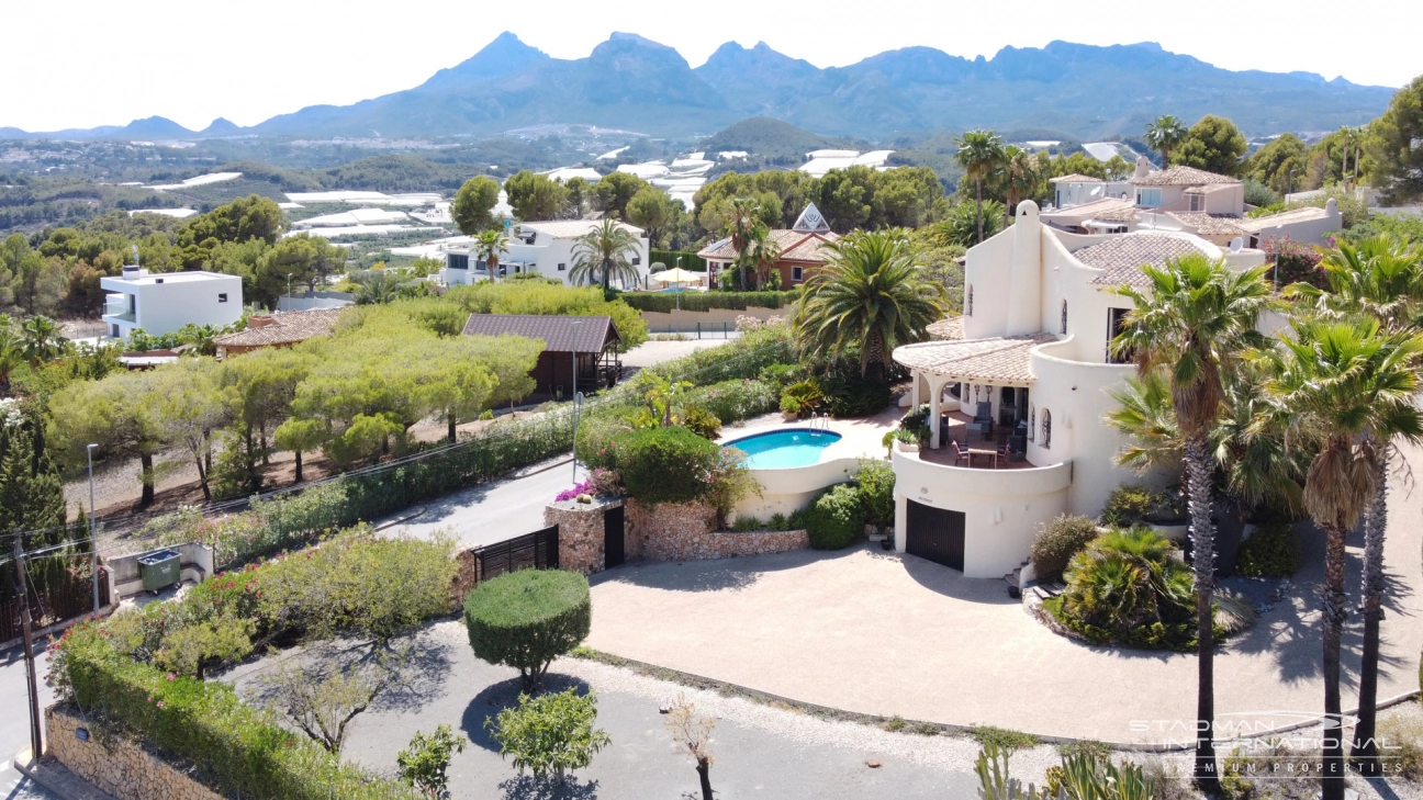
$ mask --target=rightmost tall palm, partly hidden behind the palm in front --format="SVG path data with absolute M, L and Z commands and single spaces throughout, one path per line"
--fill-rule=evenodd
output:
M 1301 310 L 1325 319 L 1366 316 L 1390 332 L 1419 332 L 1423 309 L 1423 252 L 1390 236 L 1365 239 L 1358 246 L 1339 242 L 1323 262 L 1328 288 L 1295 283 L 1285 295 Z M 1383 542 L 1389 517 L 1389 471 L 1393 446 L 1370 443 L 1379 453 L 1375 497 L 1363 524 L 1363 652 L 1359 666 L 1359 722 L 1353 752 L 1363 774 L 1379 774 L 1375 743 L 1379 699 L 1379 623 L 1383 619 Z

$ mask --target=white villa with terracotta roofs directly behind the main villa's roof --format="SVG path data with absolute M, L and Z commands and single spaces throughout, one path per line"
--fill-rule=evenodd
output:
M 1130 181 L 1103 181 L 1090 175 L 1053 178 L 1053 209 L 1042 214 L 1046 225 L 1076 233 L 1130 233 L 1157 231 L 1191 233 L 1215 245 L 1259 248 L 1271 238 L 1288 236 L 1305 245 L 1322 243 L 1343 228 L 1339 204 L 1295 208 L 1249 218 L 1245 184 L 1192 167 L 1151 171 L 1137 159 Z

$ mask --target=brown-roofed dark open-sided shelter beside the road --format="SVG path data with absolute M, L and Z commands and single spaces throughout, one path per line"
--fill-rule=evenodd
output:
M 465 336 L 505 333 L 544 342 L 544 352 L 531 373 L 538 394 L 571 397 L 575 363 L 579 391 L 596 391 L 618 383 L 622 370 L 618 344 L 622 337 L 609 316 L 470 315 L 464 323 Z

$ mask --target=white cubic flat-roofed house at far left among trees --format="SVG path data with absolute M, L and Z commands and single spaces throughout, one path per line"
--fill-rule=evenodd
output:
M 108 292 L 104 323 L 114 339 L 135 329 L 162 336 L 185 325 L 232 325 L 242 319 L 242 279 L 216 272 L 155 272 L 129 265 L 101 278 Z

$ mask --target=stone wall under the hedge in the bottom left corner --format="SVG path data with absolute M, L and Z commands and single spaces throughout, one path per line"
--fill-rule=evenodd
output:
M 98 736 L 91 729 L 90 740 L 80 742 L 74 733 L 78 727 L 87 725 L 60 706 L 44 710 L 50 754 L 70 772 L 118 800 L 223 800 L 185 770 L 132 740 L 114 733 Z

